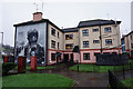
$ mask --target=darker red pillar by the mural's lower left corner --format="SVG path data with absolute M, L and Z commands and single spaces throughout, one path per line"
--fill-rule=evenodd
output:
M 18 58 L 18 72 L 25 72 L 25 57 Z

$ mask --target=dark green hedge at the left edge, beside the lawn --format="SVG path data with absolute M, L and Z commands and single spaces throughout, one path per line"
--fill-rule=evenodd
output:
M 4 62 L 2 63 L 2 75 L 8 75 L 17 65 L 14 62 Z

